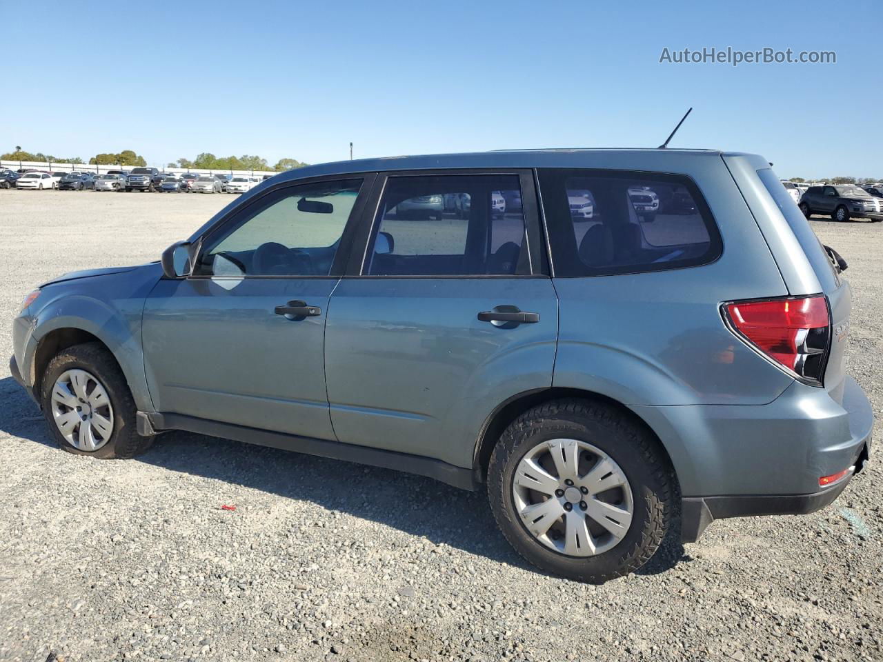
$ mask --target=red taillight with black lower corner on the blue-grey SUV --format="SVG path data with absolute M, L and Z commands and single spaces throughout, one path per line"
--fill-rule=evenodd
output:
M 725 311 L 738 335 L 801 380 L 821 385 L 831 336 L 824 296 L 736 301 Z

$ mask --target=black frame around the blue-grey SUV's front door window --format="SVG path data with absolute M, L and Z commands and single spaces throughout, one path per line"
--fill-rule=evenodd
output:
M 353 205 L 350 216 L 347 219 L 346 225 L 343 227 L 343 233 L 340 238 L 340 245 L 337 248 L 337 252 L 335 253 L 334 261 L 331 265 L 331 271 L 328 275 L 244 275 L 242 278 L 248 279 L 289 279 L 289 280 L 302 280 L 306 278 L 310 279 L 328 279 L 334 278 L 339 279 L 344 271 L 347 264 L 347 260 L 350 256 L 350 251 L 352 247 L 352 237 L 354 230 L 358 227 L 358 225 L 362 222 L 362 215 L 365 212 L 366 200 L 368 199 L 370 193 L 374 189 L 374 181 L 377 177 L 376 172 L 370 173 L 342 173 L 339 175 L 326 175 L 323 177 L 307 177 L 304 179 L 294 179 L 288 182 L 284 182 L 283 184 L 277 184 L 273 188 L 268 189 L 266 192 L 263 192 L 259 196 L 255 196 L 253 199 L 249 199 L 245 205 L 241 207 L 236 207 L 231 209 L 228 214 L 223 216 L 223 218 L 219 219 L 217 222 L 213 223 L 212 226 L 206 229 L 200 237 L 197 237 L 193 240 L 193 244 L 197 245 L 197 250 L 195 255 L 194 263 L 199 263 L 202 260 L 203 255 L 205 254 L 206 244 L 217 234 L 223 233 L 223 231 L 230 227 L 230 225 L 236 225 L 244 214 L 249 214 L 250 209 L 253 209 L 256 205 L 264 204 L 268 202 L 268 199 L 272 196 L 272 200 L 270 200 L 270 204 L 275 204 L 275 202 L 287 197 L 291 189 L 296 188 L 298 186 L 303 186 L 306 184 L 321 184 L 323 182 L 339 182 L 345 179 L 362 179 L 362 186 L 359 189 L 358 197 L 356 198 L 356 203 Z M 188 280 L 211 280 L 215 278 L 214 275 L 189 275 L 187 276 Z

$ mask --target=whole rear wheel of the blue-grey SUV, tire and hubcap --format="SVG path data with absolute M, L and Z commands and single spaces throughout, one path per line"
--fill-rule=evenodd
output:
M 651 433 L 615 407 L 583 400 L 526 411 L 502 433 L 487 471 L 494 518 L 517 553 L 588 583 L 653 557 L 674 482 Z

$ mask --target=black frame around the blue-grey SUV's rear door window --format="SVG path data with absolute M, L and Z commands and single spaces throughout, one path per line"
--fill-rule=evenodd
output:
M 386 191 L 390 177 L 442 177 L 442 176 L 482 176 L 482 175 L 517 175 L 521 188 L 522 214 L 525 219 L 525 243 L 527 248 L 530 273 L 525 275 L 371 275 L 366 274 L 368 264 L 368 248 L 374 242 L 374 236 L 380 229 L 379 211 L 383 193 Z M 533 183 L 532 169 L 420 169 L 420 170 L 389 170 L 378 173 L 373 190 L 366 198 L 362 220 L 353 233 L 350 249 L 350 260 L 347 263 L 343 278 L 537 278 L 548 277 L 545 256 L 541 254 L 541 233 L 538 214 L 538 196 Z

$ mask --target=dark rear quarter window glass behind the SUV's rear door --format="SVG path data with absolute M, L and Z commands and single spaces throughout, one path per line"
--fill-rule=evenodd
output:
M 721 236 L 687 177 L 541 170 L 557 276 L 691 267 L 721 255 Z

